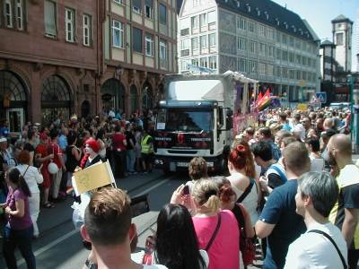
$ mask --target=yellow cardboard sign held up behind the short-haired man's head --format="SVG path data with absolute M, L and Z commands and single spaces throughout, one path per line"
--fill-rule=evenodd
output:
M 76 195 L 115 183 L 109 161 L 98 162 L 87 169 L 74 172 L 73 186 Z M 116 184 L 116 183 L 115 183 Z

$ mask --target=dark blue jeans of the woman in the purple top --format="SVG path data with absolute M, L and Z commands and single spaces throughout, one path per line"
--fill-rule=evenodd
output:
M 26 261 L 29 269 L 36 268 L 35 256 L 32 252 L 33 226 L 25 230 L 12 230 L 9 224 L 5 226 L 3 239 L 3 255 L 9 269 L 17 268 L 16 257 L 14 255 L 15 247 L 18 246 L 22 257 Z

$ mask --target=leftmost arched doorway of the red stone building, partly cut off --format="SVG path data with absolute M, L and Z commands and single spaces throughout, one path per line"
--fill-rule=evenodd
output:
M 9 121 L 10 132 L 20 134 L 24 125 L 26 91 L 21 80 L 11 71 L 0 70 L 0 123 Z

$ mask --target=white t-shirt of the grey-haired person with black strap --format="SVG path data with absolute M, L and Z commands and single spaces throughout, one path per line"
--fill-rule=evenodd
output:
M 346 240 L 337 226 L 328 222 L 324 225 L 311 225 L 307 232 L 289 246 L 285 268 L 343 268 L 342 260 L 333 243 L 320 233 L 308 233 L 309 230 L 326 232 L 336 242 L 347 263 Z

